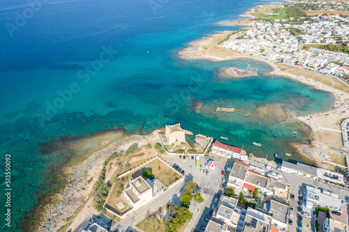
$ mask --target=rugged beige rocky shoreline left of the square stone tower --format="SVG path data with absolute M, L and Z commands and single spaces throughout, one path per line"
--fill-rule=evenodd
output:
M 114 142 L 89 155 L 89 157 L 75 167 L 66 167 L 64 173 L 67 178 L 67 185 L 64 190 L 55 194 L 56 203 L 47 204 L 43 212 L 43 220 L 36 231 L 57 231 L 66 224 L 66 219 L 71 217 L 74 211 L 84 203 L 91 191 L 94 183 L 101 173 L 103 162 L 115 151 L 126 150 L 134 143 L 144 146 L 156 140 L 157 131 L 147 135 L 133 134 L 124 137 L 120 141 Z

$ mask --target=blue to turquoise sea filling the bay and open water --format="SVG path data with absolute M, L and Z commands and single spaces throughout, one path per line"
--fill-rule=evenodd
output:
M 178 52 L 209 33 L 238 27 L 255 0 L 5 0 L 0 3 L 1 231 L 20 229 L 24 213 L 61 187 L 52 176 L 64 154 L 45 155 L 54 139 L 124 127 L 148 133 L 181 123 L 248 153 L 293 153 L 309 131 L 282 115 L 260 116 L 265 102 L 291 116 L 331 109 L 334 96 L 283 77 L 256 61 L 184 61 Z M 265 3 L 265 2 L 263 2 Z M 250 66 L 248 66 L 250 65 Z M 216 68 L 258 69 L 258 77 L 217 79 Z M 203 102 L 195 113 L 195 103 Z M 245 112 L 215 112 L 235 107 Z M 282 111 L 282 110 L 281 110 Z M 245 117 L 244 114 L 251 113 Z M 297 130 L 298 134 L 293 134 Z M 251 145 L 257 141 L 261 147 Z M 11 226 L 4 222 L 5 155 L 11 154 Z M 69 154 L 69 155 L 74 155 Z M 31 215 L 26 215 L 30 221 Z M 23 231 L 26 231 L 23 229 Z

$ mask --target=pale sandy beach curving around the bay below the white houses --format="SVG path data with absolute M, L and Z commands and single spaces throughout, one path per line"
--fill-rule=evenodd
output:
M 257 6 L 257 8 L 252 8 L 247 13 L 239 16 L 253 17 L 251 13 L 255 13 L 256 9 L 269 10 L 267 6 Z M 220 22 L 219 24 L 227 25 L 229 23 L 236 25 L 236 22 Z M 254 59 L 272 66 L 274 70 L 265 75 L 295 79 L 297 82 L 306 84 L 311 88 L 332 93 L 335 98 L 333 105 L 334 108 L 332 110 L 325 111 L 324 109 L 318 109 L 318 112 L 314 114 L 308 116 L 297 116 L 298 120 L 311 127 L 311 145 L 292 144 L 297 148 L 297 150 L 299 150 L 299 153 L 302 153 L 302 155 L 313 160 L 315 164 L 324 166 L 325 164 L 321 164 L 320 157 L 316 155 L 316 153 L 326 152 L 329 146 L 339 149 L 343 146 L 341 132 L 336 130 L 341 130 L 341 120 L 349 117 L 349 85 L 336 77 L 330 77 L 312 71 L 293 68 L 280 63 L 274 63 L 255 56 L 240 54 L 239 52 L 220 47 L 218 42 L 226 38 L 231 33 L 232 31 L 218 31 L 200 40 L 190 42 L 188 47 L 179 52 L 179 56 L 181 59 L 204 59 L 215 62 L 235 59 Z M 239 33 L 232 35 L 230 38 L 235 38 L 238 35 Z M 334 155 L 339 155 L 339 157 L 341 157 L 341 154 L 339 153 L 334 153 Z M 339 158 L 337 160 L 341 162 L 343 158 Z

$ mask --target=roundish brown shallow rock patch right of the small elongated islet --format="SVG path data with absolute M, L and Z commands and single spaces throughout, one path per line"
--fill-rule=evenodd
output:
M 283 104 L 279 102 L 265 102 L 263 105 L 257 105 L 254 114 L 259 119 L 268 118 L 279 123 L 290 118 L 288 111 L 283 109 Z

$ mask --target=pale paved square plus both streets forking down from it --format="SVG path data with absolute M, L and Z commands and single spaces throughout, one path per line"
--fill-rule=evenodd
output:
M 220 196 L 223 190 L 221 185 L 221 170 L 226 169 L 226 167 L 234 162 L 233 160 L 230 160 L 229 164 L 226 164 L 226 159 L 223 157 L 221 159 L 218 156 L 214 157 L 214 160 L 217 162 L 217 167 L 214 170 L 209 170 L 209 174 L 206 176 L 204 173 L 200 172 L 200 169 L 196 169 L 195 159 L 191 160 L 191 157 L 186 160 L 183 160 L 182 158 L 180 159 L 179 155 L 161 155 L 161 157 L 163 157 L 165 162 L 168 162 L 170 166 L 176 163 L 179 164 L 181 169 L 184 169 L 185 178 L 183 183 L 171 187 L 169 190 L 159 195 L 156 199 L 150 201 L 145 206 L 119 222 L 117 229 L 119 229 L 120 232 L 128 232 L 131 230 L 136 231 L 134 229 L 136 224 L 142 222 L 147 215 L 150 215 L 158 210 L 158 208 L 165 206 L 165 204 L 168 202 L 179 205 L 181 192 L 184 191 L 184 183 L 190 180 L 193 180 L 198 184 L 198 187 L 200 187 L 202 190 L 202 195 L 204 196 L 205 201 L 195 208 L 196 211 L 193 215 L 193 219 L 191 220 L 191 223 L 188 224 L 186 231 L 200 231 L 202 227 L 206 226 L 208 223 L 205 217 L 209 215 L 209 210 L 211 209 L 214 198 Z M 202 164 L 201 171 L 203 171 L 205 169 L 204 157 L 200 157 L 200 164 Z

